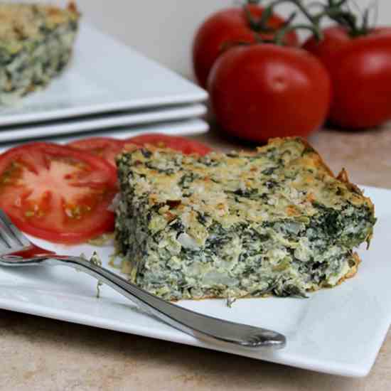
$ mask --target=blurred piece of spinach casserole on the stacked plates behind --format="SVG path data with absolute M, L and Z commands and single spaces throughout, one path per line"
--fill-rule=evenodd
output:
M 79 14 L 38 4 L 0 4 L 0 104 L 44 87 L 68 64 Z

